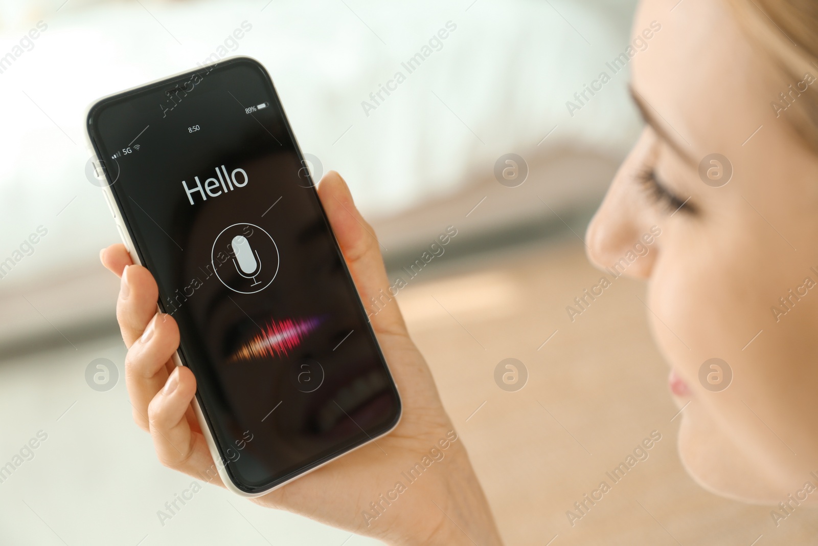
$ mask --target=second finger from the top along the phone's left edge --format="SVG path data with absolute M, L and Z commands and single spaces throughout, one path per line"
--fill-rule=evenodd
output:
M 128 265 L 119 281 L 119 298 L 116 302 L 116 319 L 125 345 L 130 347 L 148 322 L 156 314 L 159 287 L 151 272 L 142 265 Z

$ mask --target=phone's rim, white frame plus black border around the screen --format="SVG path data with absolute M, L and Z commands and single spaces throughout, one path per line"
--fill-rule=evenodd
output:
M 275 100 L 277 102 L 277 106 L 281 109 L 282 118 L 283 118 L 285 128 L 287 130 L 287 133 L 290 136 L 290 138 L 292 139 L 292 142 L 294 143 L 295 151 L 298 154 L 299 160 L 302 161 L 302 165 L 303 165 L 303 154 L 301 152 L 301 147 L 299 146 L 298 140 L 297 140 L 297 138 L 295 138 L 295 134 L 294 134 L 294 132 L 292 130 L 292 127 L 290 126 L 290 120 L 286 115 L 283 104 L 281 103 L 281 97 L 279 97 L 278 93 L 276 92 L 275 84 L 273 83 L 272 78 L 270 77 L 270 74 L 267 72 L 267 69 L 264 68 L 264 66 L 259 61 L 257 61 L 256 59 L 254 59 L 253 57 L 250 57 L 250 56 L 230 56 L 230 57 L 226 57 L 226 58 L 222 59 L 221 61 L 215 62 L 215 63 L 213 63 L 211 65 L 203 65 L 203 66 L 201 66 L 200 68 L 198 68 L 196 70 L 182 71 L 182 72 L 179 72 L 177 74 L 173 74 L 173 75 L 161 78 L 161 79 L 155 79 L 155 80 L 153 80 L 153 81 L 151 81 L 149 83 L 144 83 L 142 85 L 138 85 L 136 87 L 129 88 L 129 89 L 126 89 L 126 90 L 118 92 L 118 93 L 112 93 L 110 95 L 107 95 L 106 97 L 101 97 L 100 99 L 97 99 L 97 101 L 92 102 L 92 104 L 88 106 L 88 108 L 86 110 L 86 115 L 85 115 L 86 129 L 87 129 L 85 131 L 85 137 L 86 137 L 86 144 L 88 146 L 88 151 L 90 151 L 92 156 L 96 156 L 97 161 L 101 162 L 102 165 L 105 165 L 106 162 L 105 162 L 104 159 L 102 159 L 102 155 L 100 153 L 100 150 L 97 147 L 97 138 L 96 138 L 97 135 L 94 133 L 95 128 L 93 127 L 93 124 L 92 124 L 93 116 L 96 114 L 96 112 L 99 109 L 101 109 L 101 107 L 106 106 L 110 102 L 115 102 L 115 101 L 119 101 L 119 100 L 122 100 L 122 99 L 127 99 L 128 97 L 131 97 L 131 96 L 133 96 L 133 95 L 135 95 L 137 93 L 142 93 L 143 91 L 146 91 L 147 89 L 160 88 L 160 87 L 162 87 L 164 85 L 175 83 L 178 79 L 185 79 L 185 78 L 187 78 L 189 76 L 191 77 L 193 74 L 201 73 L 201 72 L 203 72 L 205 70 L 207 70 L 207 72 L 210 73 L 213 70 L 219 70 L 220 68 L 224 68 L 225 66 L 230 66 L 230 65 L 232 65 L 234 63 L 237 63 L 237 62 L 249 62 L 250 64 L 254 65 L 254 67 L 256 69 L 260 70 L 261 73 L 263 74 L 263 76 L 265 78 L 267 78 L 267 82 L 270 84 L 270 86 L 272 88 L 272 92 L 273 92 L 274 98 L 275 98 Z M 104 194 L 104 196 L 106 198 L 106 201 L 108 201 L 109 207 L 111 208 L 111 214 L 114 215 L 115 223 L 117 224 L 117 227 L 119 228 L 120 237 L 122 237 L 124 245 L 125 245 L 126 249 L 128 250 L 128 253 L 131 255 L 131 259 L 133 259 L 133 263 L 142 265 L 143 264 L 142 250 L 137 248 L 137 246 L 136 246 L 136 244 L 134 242 L 134 237 L 132 236 L 131 230 L 128 228 L 128 220 L 125 219 L 125 217 L 124 217 L 123 208 L 119 205 L 119 200 L 117 199 L 116 194 L 111 189 L 111 185 L 113 183 L 110 181 L 110 176 L 108 175 L 107 169 L 103 169 L 103 171 L 105 172 L 106 182 L 107 183 L 102 184 L 101 189 L 102 189 L 102 192 L 103 192 L 103 194 Z M 312 175 L 311 174 L 308 173 L 308 177 L 309 177 L 309 180 L 311 182 L 312 192 L 314 192 L 314 194 L 315 194 L 315 199 L 316 199 L 317 204 L 319 206 L 319 210 L 321 211 L 321 218 L 324 220 L 326 228 L 329 230 L 330 235 L 332 236 L 332 241 L 333 241 L 333 244 L 335 245 L 335 251 L 338 253 L 341 264 L 343 265 L 344 273 L 345 273 L 345 275 L 347 277 L 347 280 L 350 283 L 350 286 L 353 287 L 353 289 L 355 290 L 355 294 L 357 295 L 358 310 L 359 310 L 359 312 L 361 312 L 363 314 L 364 317 L 366 317 L 366 309 L 364 308 L 361 297 L 357 292 L 357 287 L 355 286 L 355 282 L 353 281 L 352 274 L 349 272 L 349 268 L 348 268 L 348 266 L 346 264 L 346 260 L 344 259 L 344 255 L 341 252 L 340 246 L 339 246 L 338 241 L 337 241 L 337 239 L 335 237 L 335 232 L 333 232 L 332 227 L 330 226 L 329 219 L 327 219 L 327 217 L 326 217 L 326 211 L 324 210 L 323 205 L 321 205 L 321 200 L 318 199 L 317 191 L 316 191 L 317 184 L 315 183 L 314 180 L 312 180 Z M 161 299 L 160 299 L 160 302 L 157 303 L 157 309 L 159 309 L 161 312 L 164 312 L 164 308 L 161 305 Z M 206 440 L 206 442 L 208 444 L 210 454 L 213 457 L 213 463 L 216 466 L 216 470 L 218 471 L 218 475 L 221 477 L 222 482 L 224 483 L 224 485 L 227 487 L 228 490 L 231 490 L 231 492 L 233 492 L 235 494 L 238 494 L 240 496 L 243 496 L 243 497 L 247 497 L 247 498 L 254 498 L 254 497 L 262 496 L 264 494 L 267 494 L 267 493 L 271 492 L 272 490 L 276 490 L 279 487 L 282 487 L 283 485 L 286 485 L 286 484 L 290 483 L 291 481 L 294 481 L 294 480 L 298 479 L 301 476 L 304 476 L 305 474 L 308 474 L 309 472 L 313 472 L 313 471 L 317 470 L 318 468 L 325 466 L 326 464 L 328 464 L 328 463 L 332 462 L 333 460 L 335 460 L 335 458 L 339 458 L 339 457 L 341 457 L 341 456 L 343 456 L 343 455 L 345 455 L 347 453 L 351 453 L 356 449 L 362 448 L 366 444 L 370 444 L 370 443 L 374 442 L 376 439 L 378 439 L 378 438 L 380 438 L 380 437 L 382 437 L 384 435 L 388 435 L 391 431 L 393 431 L 395 429 L 395 427 L 398 426 L 398 423 L 400 422 L 400 420 L 402 418 L 402 413 L 403 413 L 402 397 L 400 395 L 400 391 L 398 390 L 398 385 L 394 381 L 392 371 L 389 369 L 389 362 L 385 358 L 385 356 L 383 354 L 383 350 L 381 350 L 381 348 L 380 348 L 380 343 L 378 342 L 377 336 L 375 335 L 375 331 L 372 328 L 371 322 L 368 320 L 368 318 L 366 319 L 365 322 L 366 322 L 366 328 L 367 328 L 372 340 L 375 341 L 375 350 L 377 351 L 377 354 L 380 356 L 381 362 L 384 364 L 384 368 L 385 368 L 385 370 L 386 370 L 386 372 L 387 372 L 387 374 L 389 376 L 389 380 L 391 381 L 391 386 L 392 386 L 394 395 L 395 395 L 396 400 L 397 400 L 397 411 L 396 411 L 396 416 L 394 417 L 393 422 L 384 431 L 376 433 L 375 435 L 369 435 L 366 431 L 364 431 L 365 434 L 367 436 L 369 436 L 368 440 L 363 440 L 363 441 L 359 442 L 358 444 L 354 444 L 353 446 L 345 448 L 345 449 L 339 449 L 339 450 L 337 450 L 337 451 L 335 451 L 335 452 L 333 452 L 333 453 L 331 453 L 329 455 L 326 455 L 324 458 L 318 459 L 317 461 L 314 461 L 314 462 L 312 462 L 312 463 L 310 463 L 308 465 L 304 465 L 303 467 L 300 467 L 299 470 L 297 470 L 295 472 L 291 472 L 289 475 L 286 475 L 286 476 L 284 476 L 283 478 L 281 478 L 281 479 L 279 479 L 277 481 L 273 481 L 272 484 L 267 486 L 267 487 L 247 486 L 247 485 L 244 485 L 244 484 L 240 484 L 240 483 L 238 483 L 236 481 L 233 474 L 227 468 L 227 466 L 229 465 L 229 461 L 227 463 L 224 463 L 224 461 L 227 460 L 227 459 L 222 456 L 222 448 L 218 444 L 218 442 L 216 441 L 216 439 L 215 439 L 215 437 L 213 435 L 212 427 L 210 426 L 209 414 L 207 413 L 206 408 L 204 407 L 204 404 L 201 404 L 199 393 L 198 392 L 196 393 L 196 397 L 193 399 L 193 403 L 192 403 L 194 413 L 196 413 L 196 418 L 197 418 L 197 420 L 198 420 L 198 422 L 200 424 L 200 429 L 202 431 L 202 434 L 205 436 L 205 440 Z M 180 354 L 179 350 L 177 350 L 173 354 L 173 363 L 175 363 L 177 366 L 184 366 L 185 364 L 182 362 L 182 358 L 183 358 L 183 355 Z

